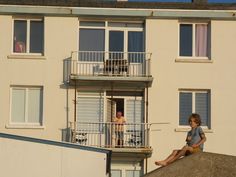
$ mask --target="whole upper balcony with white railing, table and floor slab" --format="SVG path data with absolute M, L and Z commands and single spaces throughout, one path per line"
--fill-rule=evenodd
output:
M 132 82 L 135 87 L 150 87 L 150 63 L 151 53 L 146 52 L 76 51 L 66 63 L 67 81 L 96 85 L 104 81 Z

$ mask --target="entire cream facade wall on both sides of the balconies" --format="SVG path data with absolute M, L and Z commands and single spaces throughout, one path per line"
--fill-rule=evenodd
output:
M 0 16 L 0 131 L 18 135 L 61 140 L 67 120 L 73 120 L 74 90 L 63 85 L 63 60 L 78 44 L 78 18 L 45 17 L 45 58 L 16 59 L 11 55 L 12 17 Z M 166 157 L 172 149 L 184 145 L 186 131 L 176 131 L 179 121 L 179 89 L 211 90 L 211 130 L 206 133 L 205 151 L 236 155 L 235 100 L 235 21 L 211 21 L 211 61 L 176 62 L 178 56 L 178 20 L 147 19 L 146 51 L 152 53 L 154 82 L 149 89 L 149 122 L 154 161 Z M 11 39 L 11 40 L 9 40 Z M 16 129 L 7 127 L 10 119 L 10 86 L 44 87 L 43 127 Z M 67 105 L 68 101 L 68 105 Z M 6 128 L 7 127 L 7 128 Z M 159 131 L 159 129 L 161 131 Z

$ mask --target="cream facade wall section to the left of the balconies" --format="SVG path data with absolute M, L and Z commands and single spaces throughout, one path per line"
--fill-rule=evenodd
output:
M 11 55 L 12 17 L 0 16 L 0 131 L 18 135 L 61 140 L 67 120 L 73 119 L 73 93 L 63 84 L 63 61 L 77 49 L 77 18 L 45 17 L 44 57 L 23 59 Z M 9 58 L 10 57 L 10 58 Z M 10 86 L 43 86 L 43 126 L 11 128 Z M 68 105 L 67 105 L 68 100 Z M 6 128 L 7 127 L 7 128 Z

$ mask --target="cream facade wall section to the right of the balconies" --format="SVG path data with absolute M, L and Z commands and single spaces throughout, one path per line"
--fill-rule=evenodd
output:
M 178 20 L 147 20 L 147 51 L 152 55 L 154 82 L 149 89 L 151 144 L 154 161 L 163 159 L 185 144 L 186 131 L 176 131 L 179 121 L 179 89 L 210 89 L 211 129 L 206 130 L 205 151 L 236 155 L 235 132 L 235 21 L 211 21 L 211 63 L 176 62 L 178 57 Z

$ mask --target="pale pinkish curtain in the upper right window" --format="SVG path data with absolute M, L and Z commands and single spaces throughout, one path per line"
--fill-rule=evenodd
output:
M 197 57 L 207 57 L 207 24 L 196 25 L 196 51 Z

